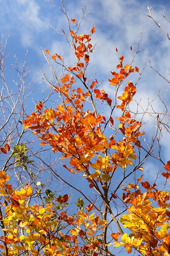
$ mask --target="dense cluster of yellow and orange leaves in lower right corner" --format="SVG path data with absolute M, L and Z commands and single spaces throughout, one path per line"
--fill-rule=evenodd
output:
M 140 180 L 140 178 L 139 178 Z M 119 219 L 124 227 L 132 232 L 124 234 L 121 242 L 115 242 L 115 246 L 124 246 L 128 253 L 132 248 L 144 255 L 169 255 L 170 252 L 170 194 L 168 191 L 158 191 L 155 184 L 141 182 L 146 192 L 141 193 L 139 186 L 129 184 L 124 194 L 125 203 L 129 203 L 128 214 Z M 134 192 L 130 189 L 134 188 Z M 168 253 L 168 254 L 165 254 Z

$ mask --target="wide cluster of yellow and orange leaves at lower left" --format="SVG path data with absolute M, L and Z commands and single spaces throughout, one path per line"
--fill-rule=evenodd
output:
M 7 245 L 9 256 L 26 255 L 28 251 L 32 256 L 57 256 L 77 254 L 78 250 L 99 250 L 101 242 L 94 241 L 94 238 L 101 236 L 99 230 L 106 226 L 106 221 L 94 213 L 89 214 L 92 204 L 86 207 L 85 212 L 78 211 L 77 216 L 68 216 L 66 211 L 57 211 L 52 203 L 30 205 L 28 199 L 32 196 L 32 187 L 13 190 L 8 181 L 9 175 L 0 171 L 0 195 L 4 200 L 1 208 L 4 207 L 5 214 L 1 216 L 4 235 L 1 234 L 0 239 Z M 67 200 L 68 195 L 64 195 L 62 200 L 56 198 L 61 204 Z M 68 231 L 63 234 L 61 230 L 64 232 L 68 226 L 70 234 Z M 78 238 L 88 239 L 87 245 L 80 246 Z M 2 255 L 5 255 L 4 245 L 1 245 Z

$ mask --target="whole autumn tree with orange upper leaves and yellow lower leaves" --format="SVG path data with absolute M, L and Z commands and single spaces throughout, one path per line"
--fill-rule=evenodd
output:
M 166 189 L 170 161 L 165 163 L 161 155 L 162 124 L 168 110 L 152 114 L 155 130 L 146 141 L 143 118 L 147 111 L 139 115 L 140 103 L 136 110 L 132 105 L 144 72 L 134 65 L 139 44 L 136 52 L 130 46 L 131 63 L 115 49 L 118 63 L 108 78 L 113 90 L 108 95 L 97 74 L 88 75 L 96 45 L 93 25 L 89 34 L 79 34 L 86 6 L 78 20 L 68 18 L 66 4 L 62 0 L 61 4 L 54 6 L 66 16 L 68 29 L 59 32 L 73 57 L 67 62 L 60 52 L 42 49 L 52 77 L 42 70 L 43 80 L 58 102 L 49 107 L 48 100 L 39 99 L 22 121 L 24 132 L 32 132 L 44 150 L 49 148 L 60 156 L 57 164 L 64 172 L 47 163 L 44 171 L 47 179 L 50 175 L 63 187 L 44 190 L 34 175 L 34 185 L 22 183 L 14 189 L 8 169 L 0 172 L 1 254 L 113 256 L 125 250 L 132 255 L 170 255 L 170 194 Z M 57 66 L 62 67 L 61 74 Z M 133 81 L 135 73 L 137 81 Z M 9 144 L 2 152 L 6 150 Z M 32 162 L 26 152 L 24 157 L 26 162 L 20 164 L 27 170 Z M 152 184 L 143 173 L 150 159 L 160 162 L 164 170 L 157 170 Z M 161 175 L 164 183 L 158 189 Z M 71 182 L 74 177 L 76 182 Z

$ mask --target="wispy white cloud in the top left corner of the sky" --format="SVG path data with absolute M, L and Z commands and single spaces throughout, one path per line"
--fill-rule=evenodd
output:
M 49 17 L 41 12 L 35 0 L 3 2 L 0 18 L 2 34 L 18 37 L 24 47 L 33 47 L 37 37 L 50 27 Z M 6 35 L 5 35 L 6 36 Z

